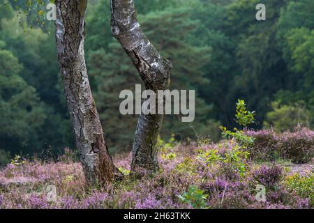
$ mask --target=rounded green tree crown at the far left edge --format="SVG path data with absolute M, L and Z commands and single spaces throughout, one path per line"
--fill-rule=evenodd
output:
M 0 49 L 0 70 L 0 148 L 17 153 L 36 145 L 47 116 L 36 90 L 20 77 L 22 66 L 6 49 Z

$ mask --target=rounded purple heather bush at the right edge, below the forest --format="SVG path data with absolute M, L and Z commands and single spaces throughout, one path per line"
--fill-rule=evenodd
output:
M 292 162 L 309 162 L 314 156 L 314 131 L 298 125 L 294 132 L 281 134 L 278 147 L 282 156 Z

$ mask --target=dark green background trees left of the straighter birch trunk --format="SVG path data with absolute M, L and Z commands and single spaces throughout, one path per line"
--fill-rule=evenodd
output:
M 0 22 L 1 98 L 6 102 L 0 148 L 33 155 L 51 145 L 57 152 L 73 146 L 73 139 L 61 100 L 54 36 L 38 28 L 24 33 L 23 27 L 10 15 Z

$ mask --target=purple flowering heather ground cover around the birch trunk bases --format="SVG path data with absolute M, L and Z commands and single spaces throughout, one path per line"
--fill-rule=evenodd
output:
M 114 157 L 126 177 L 104 188 L 87 187 L 74 161 L 8 164 L 0 170 L 0 208 L 314 208 L 313 164 L 304 171 L 254 162 L 234 140 L 166 145 L 159 171 L 137 180 L 128 176 L 130 154 Z M 266 201 L 257 201 L 257 184 Z

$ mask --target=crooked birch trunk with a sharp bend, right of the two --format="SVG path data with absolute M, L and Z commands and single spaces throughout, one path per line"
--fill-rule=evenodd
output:
M 172 63 L 160 56 L 144 36 L 137 22 L 134 1 L 111 0 L 111 10 L 112 34 L 132 59 L 145 88 L 155 93 L 167 89 Z M 140 115 L 133 144 L 133 174 L 142 176 L 158 169 L 156 140 L 162 121 L 162 114 Z

